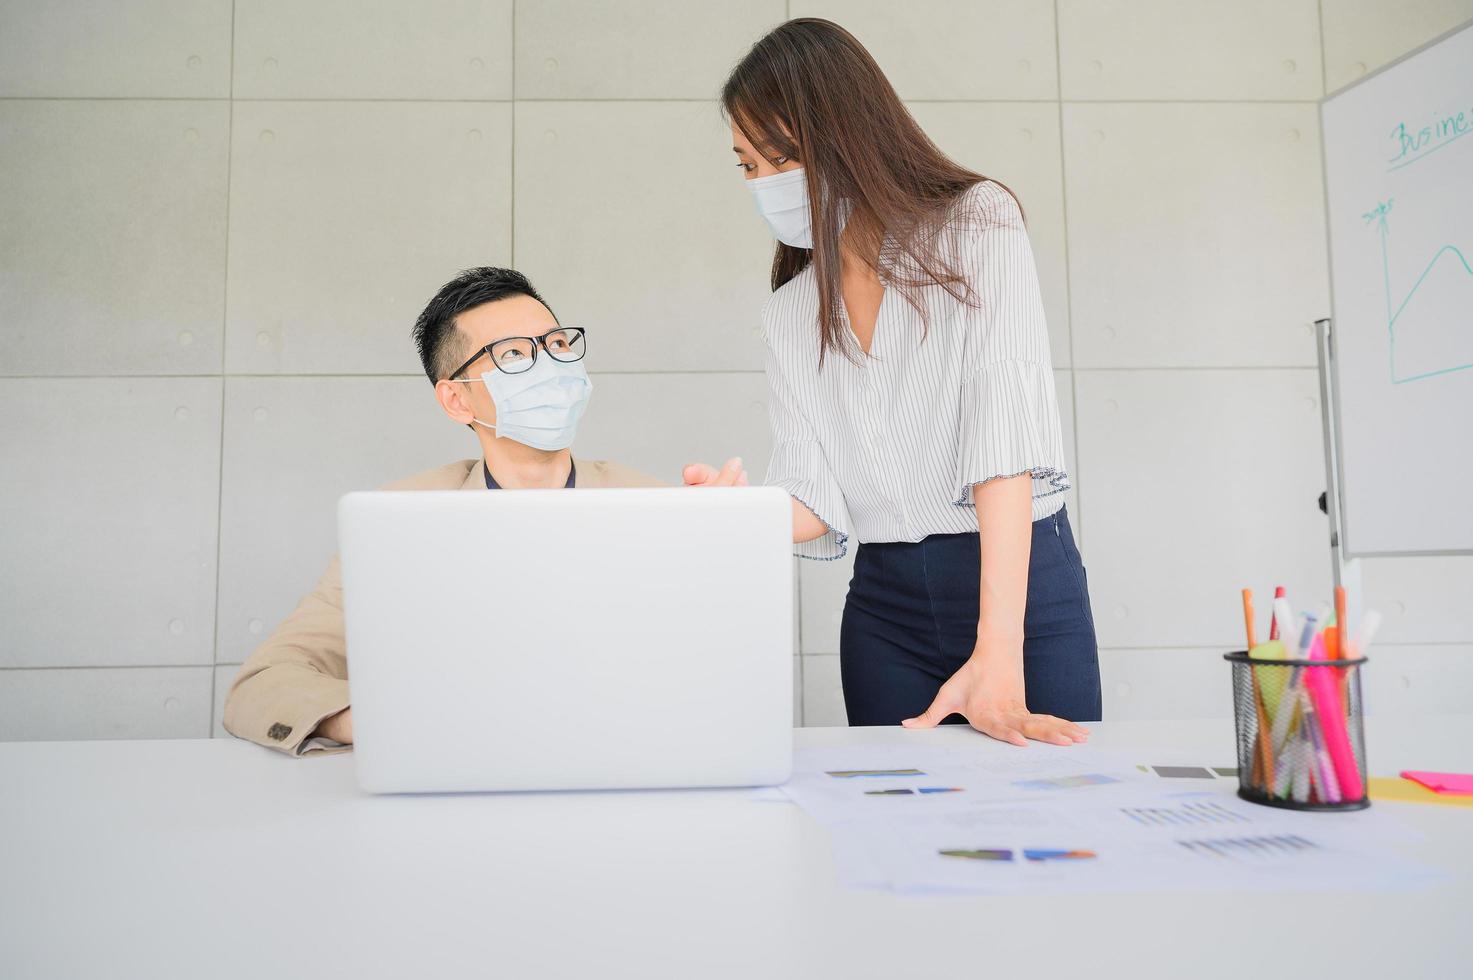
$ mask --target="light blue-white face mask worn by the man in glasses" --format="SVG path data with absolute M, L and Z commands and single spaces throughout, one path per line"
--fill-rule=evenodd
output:
M 496 407 L 496 423 L 474 417 L 471 421 L 493 429 L 498 439 L 546 452 L 573 445 L 577 421 L 594 392 L 594 382 L 582 361 L 567 363 L 552 357 L 539 357 L 530 370 L 518 374 L 492 367 L 482 373 L 480 380 Z

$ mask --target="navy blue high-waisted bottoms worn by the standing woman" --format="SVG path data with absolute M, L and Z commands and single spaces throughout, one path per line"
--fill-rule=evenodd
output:
M 899 725 L 931 706 L 977 647 L 980 575 L 977 533 L 859 545 L 840 632 L 850 725 Z M 1022 669 L 1028 710 L 1100 719 L 1094 616 L 1062 508 L 1033 525 Z

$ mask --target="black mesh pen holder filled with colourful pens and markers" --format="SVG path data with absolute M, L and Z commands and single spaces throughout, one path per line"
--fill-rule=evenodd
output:
M 1233 665 L 1237 794 L 1295 811 L 1358 811 L 1365 790 L 1361 665 L 1264 660 L 1239 650 Z

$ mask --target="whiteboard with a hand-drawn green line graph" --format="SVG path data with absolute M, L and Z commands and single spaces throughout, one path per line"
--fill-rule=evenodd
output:
M 1343 551 L 1473 553 L 1473 22 L 1320 133 Z

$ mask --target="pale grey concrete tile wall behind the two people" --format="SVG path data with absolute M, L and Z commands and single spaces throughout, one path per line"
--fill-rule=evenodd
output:
M 336 497 L 476 452 L 408 340 L 463 267 L 589 327 L 580 454 L 760 476 L 769 239 L 714 99 L 787 16 L 1022 197 L 1106 716 L 1226 718 L 1234 589 L 1330 579 L 1315 100 L 1473 0 L 0 6 L 0 738 L 221 734 Z M 801 564 L 795 721 L 843 724 L 847 579 Z M 1365 582 L 1371 710 L 1463 707 L 1473 561 Z

